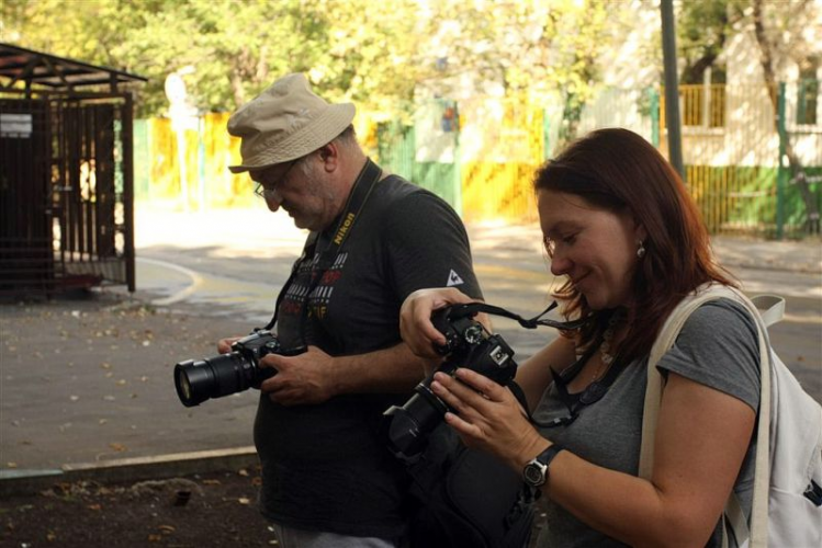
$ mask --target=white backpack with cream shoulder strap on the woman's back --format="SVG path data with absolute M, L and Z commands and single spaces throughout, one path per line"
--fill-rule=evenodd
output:
M 671 312 L 649 357 L 640 477 L 650 479 L 653 465 L 663 389 L 656 364 L 673 346 L 690 313 L 719 298 L 743 305 L 756 321 L 762 379 L 751 525 L 748 528 L 731 492 L 723 515 L 722 545 L 727 546 L 731 533 L 741 547 L 822 546 L 822 407 L 802 389 L 768 341 L 767 328 L 785 315 L 781 297 L 763 295 L 752 301 L 732 287 L 706 284 Z

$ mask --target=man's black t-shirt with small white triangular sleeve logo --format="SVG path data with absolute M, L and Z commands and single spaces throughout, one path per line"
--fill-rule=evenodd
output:
M 286 347 L 303 342 L 301 311 L 317 255 L 336 226 L 319 235 L 313 256 L 295 264 L 278 319 L 278 338 Z M 441 198 L 394 175 L 376 183 L 330 259 L 311 289 L 303 332 L 306 344 L 335 356 L 402 342 L 399 307 L 416 289 L 451 285 L 482 296 L 460 218 Z M 255 422 L 262 513 L 303 529 L 401 535 L 407 476 L 378 431 L 383 411 L 409 396 L 345 395 L 286 408 L 262 395 Z

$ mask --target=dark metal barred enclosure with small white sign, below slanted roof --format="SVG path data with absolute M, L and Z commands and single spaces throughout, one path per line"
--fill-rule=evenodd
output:
M 135 288 L 132 98 L 0 96 L 0 293 Z

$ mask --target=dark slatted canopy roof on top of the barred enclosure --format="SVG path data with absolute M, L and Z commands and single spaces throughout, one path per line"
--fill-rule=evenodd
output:
M 109 85 L 109 91 L 115 92 L 121 83 L 146 81 L 142 76 L 122 70 L 0 43 L 0 90 L 24 82 L 26 90 L 33 84 L 64 92 Z

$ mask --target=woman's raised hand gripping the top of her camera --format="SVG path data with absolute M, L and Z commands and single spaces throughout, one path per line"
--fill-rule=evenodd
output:
M 431 323 L 431 313 L 450 305 L 466 302 L 475 301 L 453 287 L 412 293 L 399 309 L 399 333 L 403 341 L 418 356 L 442 357 L 435 346 L 444 345 L 446 338 Z

